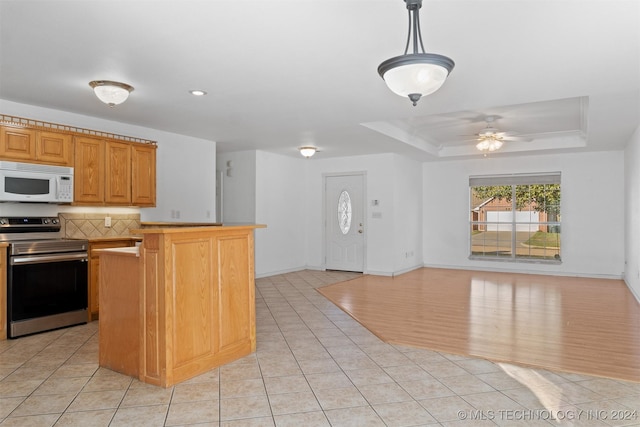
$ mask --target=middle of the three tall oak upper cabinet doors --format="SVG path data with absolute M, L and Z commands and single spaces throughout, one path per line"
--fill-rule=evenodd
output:
M 131 144 L 107 141 L 105 153 L 104 201 L 107 205 L 131 205 Z

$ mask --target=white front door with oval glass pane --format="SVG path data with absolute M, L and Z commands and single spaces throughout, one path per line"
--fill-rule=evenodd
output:
M 325 177 L 325 268 L 364 271 L 364 175 Z

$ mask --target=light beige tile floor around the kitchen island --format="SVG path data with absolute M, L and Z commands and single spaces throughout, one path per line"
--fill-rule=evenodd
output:
M 97 322 L 0 342 L 2 426 L 637 426 L 640 384 L 385 344 L 315 291 L 256 281 L 257 351 L 174 387 L 98 367 Z

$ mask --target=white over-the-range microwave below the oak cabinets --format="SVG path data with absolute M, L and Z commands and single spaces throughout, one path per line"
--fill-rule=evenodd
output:
M 73 168 L 0 161 L 0 202 L 73 202 Z

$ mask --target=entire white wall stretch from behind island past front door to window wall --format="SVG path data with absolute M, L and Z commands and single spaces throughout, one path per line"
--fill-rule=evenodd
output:
M 226 171 L 228 160 L 224 222 L 267 225 L 255 231 L 257 277 L 324 268 L 324 176 L 345 172 L 366 174 L 366 272 L 422 266 L 421 163 L 394 154 L 323 160 L 245 151 L 219 153 L 218 169 Z

